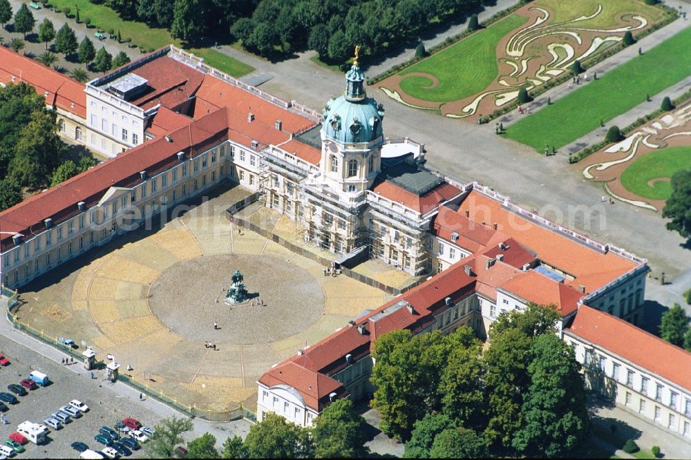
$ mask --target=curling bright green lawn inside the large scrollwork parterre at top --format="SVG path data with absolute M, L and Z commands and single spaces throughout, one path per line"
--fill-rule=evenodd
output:
M 427 88 L 432 84 L 430 79 L 406 77 L 401 80 L 401 89 L 408 95 L 433 102 L 455 101 L 479 93 L 497 77 L 497 44 L 504 35 L 526 21 L 525 17 L 509 15 L 413 64 L 400 75 L 428 73 L 439 79 L 439 85 L 430 89 Z

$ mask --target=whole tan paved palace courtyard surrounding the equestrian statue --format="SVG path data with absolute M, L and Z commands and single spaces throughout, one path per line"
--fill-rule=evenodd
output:
M 256 381 L 271 365 L 387 297 L 234 231 L 225 209 L 249 193 L 217 189 L 161 229 L 133 231 L 50 272 L 23 289 L 19 320 L 48 337 L 86 341 L 99 358 L 115 355 L 121 372 L 176 403 L 212 416 L 240 405 L 254 411 Z M 223 302 L 237 268 L 265 305 Z

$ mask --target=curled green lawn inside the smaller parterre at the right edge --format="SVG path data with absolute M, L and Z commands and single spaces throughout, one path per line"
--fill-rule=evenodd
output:
M 624 170 L 621 183 L 630 192 L 651 200 L 667 200 L 672 195 L 670 182 L 649 180 L 670 178 L 680 169 L 691 169 L 691 146 L 670 147 L 646 153 Z

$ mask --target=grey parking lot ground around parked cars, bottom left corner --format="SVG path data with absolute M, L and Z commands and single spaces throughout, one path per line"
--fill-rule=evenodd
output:
M 144 408 L 137 401 L 131 401 L 111 391 L 108 383 L 102 378 L 102 372 L 95 373 L 99 377 L 92 380 L 88 373 L 75 374 L 68 369 L 83 366 L 81 362 L 60 365 L 3 336 L 0 336 L 0 352 L 10 360 L 10 365 L 0 367 L 0 391 L 8 392 L 7 385 L 19 383 L 32 370 L 48 374 L 53 382 L 46 387 L 30 391 L 26 396 L 17 396 L 17 404 L 8 404 L 9 410 L 4 414 L 9 423 L 0 423 L 0 442 L 4 443 L 8 435 L 16 431 L 17 425 L 23 421 L 44 424 L 44 419 L 72 399 L 78 399 L 90 408 L 81 418 L 73 419 L 61 430 L 50 429 L 44 445 L 31 442 L 24 445 L 26 452 L 17 454 L 16 458 L 78 458 L 79 452 L 73 450 L 70 444 L 82 441 L 89 448 L 100 450 L 104 446 L 94 441 L 93 437 L 103 425 L 113 428 L 116 421 L 128 416 L 138 419 L 144 425 L 155 425 L 160 421 L 158 414 Z M 129 458 L 142 457 L 146 457 L 143 449 L 134 451 Z

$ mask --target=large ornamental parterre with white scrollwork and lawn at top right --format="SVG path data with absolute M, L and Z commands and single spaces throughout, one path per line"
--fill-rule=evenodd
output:
M 488 114 L 513 102 L 520 88 L 563 77 L 577 59 L 593 58 L 665 15 L 638 0 L 533 1 L 377 86 L 399 102 L 447 117 Z

